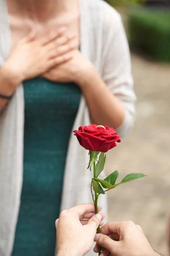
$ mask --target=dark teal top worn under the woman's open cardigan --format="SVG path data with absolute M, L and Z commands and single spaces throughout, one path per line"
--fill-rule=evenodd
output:
M 54 256 L 68 142 L 81 92 L 76 84 L 25 81 L 23 189 L 12 256 Z

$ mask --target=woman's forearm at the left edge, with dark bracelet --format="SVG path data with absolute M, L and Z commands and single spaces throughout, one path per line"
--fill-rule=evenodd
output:
M 0 68 L 0 94 L 4 96 L 11 96 L 17 85 L 20 84 L 20 81 L 17 77 L 12 76 L 10 71 L 5 65 Z M 8 104 L 8 99 L 5 99 L 0 96 L 0 113 Z

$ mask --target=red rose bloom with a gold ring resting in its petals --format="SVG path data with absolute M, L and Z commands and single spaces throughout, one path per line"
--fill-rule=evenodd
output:
M 74 131 L 79 144 L 90 151 L 107 152 L 116 147 L 116 142 L 121 142 L 120 137 L 113 128 L 102 125 L 80 126 L 79 131 Z

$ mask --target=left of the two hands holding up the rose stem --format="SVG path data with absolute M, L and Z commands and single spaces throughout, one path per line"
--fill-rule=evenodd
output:
M 102 207 L 98 207 L 100 211 Z M 96 229 L 104 215 L 95 215 L 94 204 L 80 204 L 63 211 L 56 221 L 57 256 L 84 256 L 91 250 Z

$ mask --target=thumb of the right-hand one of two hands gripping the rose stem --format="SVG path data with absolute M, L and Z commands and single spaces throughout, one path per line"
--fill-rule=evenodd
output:
M 114 253 L 116 253 L 116 241 L 113 241 L 109 236 L 103 235 L 103 234 L 96 234 L 94 241 L 97 244 L 100 244 L 102 247 L 105 247 L 106 249 L 108 249 L 112 254 L 113 254 L 113 250 Z

